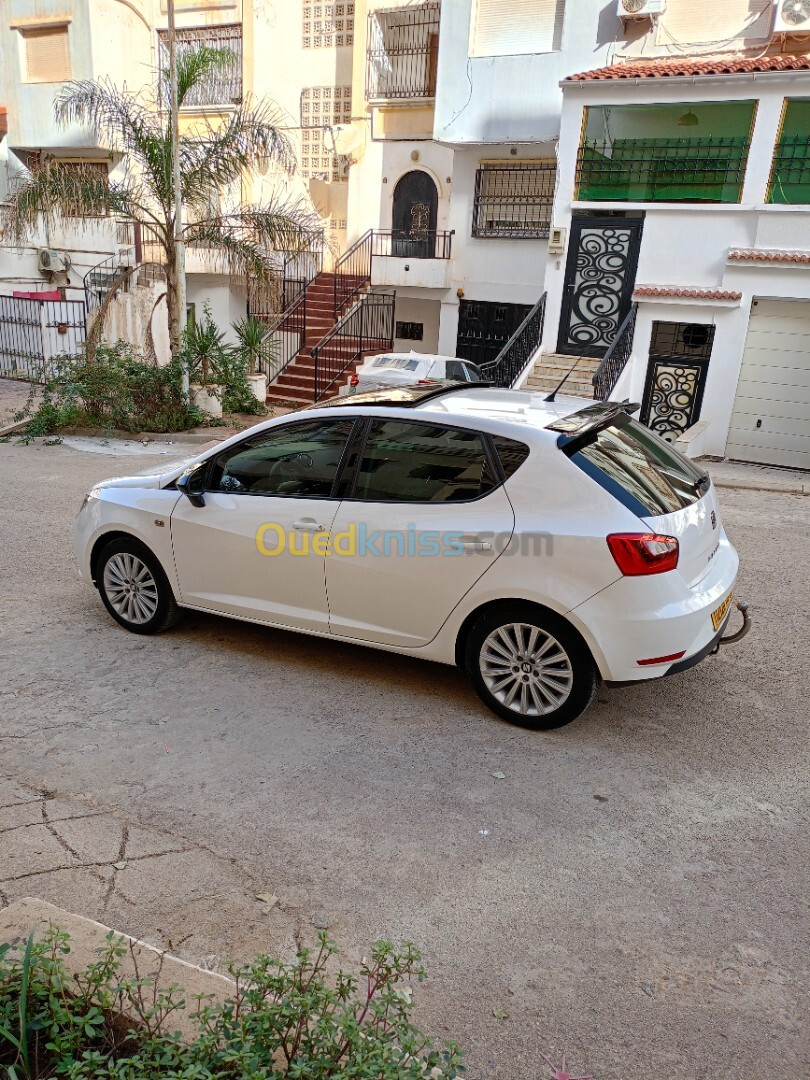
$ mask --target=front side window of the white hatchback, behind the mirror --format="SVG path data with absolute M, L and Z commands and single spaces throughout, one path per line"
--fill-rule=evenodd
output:
M 214 459 L 207 489 L 327 498 L 353 424 L 310 420 L 246 438 Z

